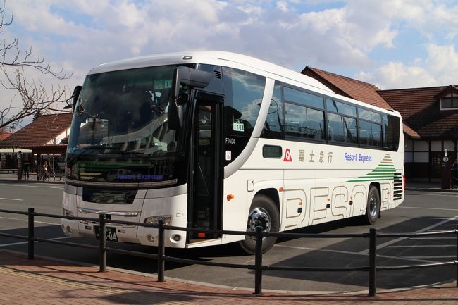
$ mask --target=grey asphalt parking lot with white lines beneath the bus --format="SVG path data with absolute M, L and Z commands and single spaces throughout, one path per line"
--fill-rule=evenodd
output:
M 61 213 L 63 185 L 37 182 L 0 182 L 0 208 L 27 211 L 35 208 L 39 213 Z M 379 232 L 431 232 L 452 230 L 458 224 L 458 193 L 407 192 L 404 203 L 390 211 L 384 211 L 376 223 Z M 97 244 L 93 239 L 65 237 L 55 218 L 37 218 L 35 236 L 62 239 L 71 242 Z M 369 226 L 360 225 L 355 219 L 314 225 L 292 232 L 363 233 Z M 26 216 L 0 213 L 0 231 L 27 235 Z M 156 253 L 154 247 L 134 244 L 109 244 L 147 253 Z M 27 244 L 20 239 L 0 237 L 0 248 L 27 251 Z M 399 237 L 379 238 L 377 263 L 380 266 L 400 266 L 438 261 L 453 261 L 457 254 L 457 238 Z M 56 244 L 35 244 L 35 254 L 82 263 L 98 264 L 98 253 L 90 249 L 66 247 Z M 228 244 L 202 249 L 167 249 L 166 254 L 183 258 L 216 262 L 253 264 L 254 256 L 247 256 Z M 0 254 L 1 255 L 1 254 Z M 368 266 L 369 239 L 280 239 L 264 255 L 264 265 L 272 266 Z M 121 254 L 108 254 L 107 264 L 144 273 L 156 273 L 156 261 Z M 378 271 L 377 287 L 397 288 L 431 285 L 456 280 L 456 267 Z M 254 287 L 254 273 L 245 269 L 220 268 L 179 263 L 166 264 L 166 277 L 180 278 L 233 287 Z M 355 291 L 367 290 L 369 275 L 366 272 L 264 272 L 263 288 L 292 291 Z

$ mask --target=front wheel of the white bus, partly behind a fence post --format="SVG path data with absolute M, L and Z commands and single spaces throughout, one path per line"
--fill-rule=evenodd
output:
M 280 230 L 280 212 L 276 204 L 270 197 L 259 194 L 256 195 L 249 208 L 247 221 L 247 231 L 254 232 L 256 226 L 261 225 L 264 232 L 278 232 Z M 262 253 L 266 253 L 275 244 L 277 237 L 263 237 Z M 254 236 L 245 236 L 240 241 L 240 247 L 247 254 L 254 254 L 256 251 L 256 238 Z

